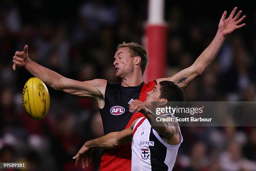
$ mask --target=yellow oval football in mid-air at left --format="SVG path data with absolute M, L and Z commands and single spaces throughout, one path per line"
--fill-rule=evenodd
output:
M 29 78 L 23 88 L 22 100 L 25 111 L 35 119 L 43 119 L 50 107 L 50 95 L 44 82 L 37 77 Z

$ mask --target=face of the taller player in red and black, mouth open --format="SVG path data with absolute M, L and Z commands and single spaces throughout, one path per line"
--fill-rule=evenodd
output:
M 124 78 L 128 73 L 134 70 L 134 58 L 131 57 L 130 49 L 128 47 L 120 48 L 115 53 L 115 76 Z

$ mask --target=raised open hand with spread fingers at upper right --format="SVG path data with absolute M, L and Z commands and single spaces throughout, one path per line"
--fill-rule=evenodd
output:
M 238 28 L 241 28 L 241 27 L 246 25 L 245 23 L 240 24 L 246 18 L 245 15 L 243 15 L 243 17 L 240 18 L 240 15 L 242 13 L 241 10 L 233 18 L 233 16 L 236 13 L 236 10 L 237 10 L 237 7 L 235 7 L 233 9 L 233 11 L 230 13 L 230 15 L 229 15 L 229 17 L 227 19 L 225 19 L 226 16 L 227 16 L 227 11 L 224 11 L 222 17 L 220 18 L 219 30 L 218 31 L 221 34 L 223 34 L 223 36 L 227 36 L 230 33 L 232 33 L 234 30 L 236 30 Z

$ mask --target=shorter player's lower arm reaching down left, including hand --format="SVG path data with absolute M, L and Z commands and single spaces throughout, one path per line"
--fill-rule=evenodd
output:
M 96 138 L 85 142 L 84 145 L 78 151 L 78 153 L 73 157 L 73 159 L 76 159 L 76 166 L 79 160 L 81 160 L 82 168 L 87 167 L 89 158 L 91 158 L 91 154 L 93 152 L 94 147 L 110 149 L 117 148 L 119 146 L 123 146 L 131 142 L 133 138 L 133 126 L 137 120 L 138 119 L 133 121 L 130 128 L 127 128 L 123 131 L 111 132 L 100 138 Z

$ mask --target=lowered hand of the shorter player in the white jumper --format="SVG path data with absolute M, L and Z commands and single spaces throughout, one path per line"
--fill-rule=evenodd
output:
M 80 148 L 78 153 L 73 157 L 76 159 L 75 166 L 77 166 L 79 160 L 82 162 L 82 168 L 86 168 L 89 166 L 89 162 L 92 162 L 92 152 L 93 148 L 88 148 L 85 144 Z

